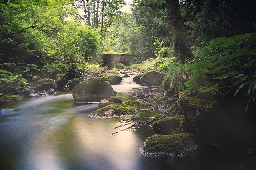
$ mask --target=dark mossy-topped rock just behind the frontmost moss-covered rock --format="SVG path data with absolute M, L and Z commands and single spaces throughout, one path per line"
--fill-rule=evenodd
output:
M 167 129 L 167 130 L 178 129 L 182 121 L 184 120 L 185 120 L 185 117 L 183 115 L 165 117 L 163 119 L 160 119 L 152 123 L 152 127 L 156 129 Z

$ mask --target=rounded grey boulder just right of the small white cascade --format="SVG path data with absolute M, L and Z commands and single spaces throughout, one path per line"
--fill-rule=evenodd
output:
M 160 72 L 151 71 L 143 74 L 140 80 L 140 83 L 146 83 L 148 86 L 160 86 L 164 80 L 164 76 Z

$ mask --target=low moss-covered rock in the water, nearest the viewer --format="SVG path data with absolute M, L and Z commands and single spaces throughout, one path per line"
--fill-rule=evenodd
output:
M 189 156 L 198 149 L 196 137 L 192 133 L 174 135 L 152 135 L 141 150 L 146 156 L 169 156 L 182 158 Z

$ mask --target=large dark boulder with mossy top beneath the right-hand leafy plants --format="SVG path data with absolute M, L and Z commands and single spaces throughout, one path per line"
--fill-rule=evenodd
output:
M 230 150 L 244 151 L 256 143 L 255 108 L 244 95 L 226 96 L 197 91 L 178 100 L 178 107 L 187 120 L 186 131 L 200 139 Z M 254 105 L 254 104 L 252 104 Z

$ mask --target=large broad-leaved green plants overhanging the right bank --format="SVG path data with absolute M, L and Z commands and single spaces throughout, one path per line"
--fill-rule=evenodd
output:
M 200 51 L 201 56 L 186 66 L 193 74 L 186 86 L 225 96 L 232 89 L 237 89 L 236 94 L 248 85 L 247 94 L 254 96 L 255 40 L 256 33 L 211 40 Z

